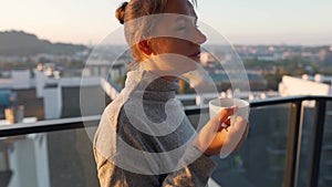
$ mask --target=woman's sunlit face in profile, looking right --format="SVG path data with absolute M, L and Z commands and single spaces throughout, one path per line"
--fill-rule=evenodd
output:
M 206 37 L 197 29 L 197 15 L 189 1 L 168 0 L 154 35 L 147 43 L 152 59 L 145 64 L 147 69 L 172 76 L 197 69 Z

